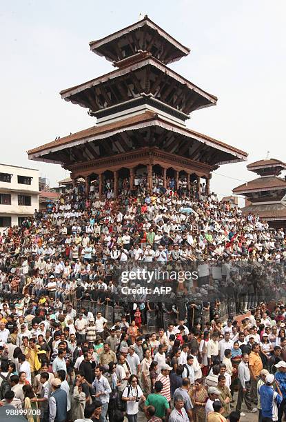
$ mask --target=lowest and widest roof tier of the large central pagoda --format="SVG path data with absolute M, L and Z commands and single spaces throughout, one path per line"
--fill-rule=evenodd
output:
M 144 138 L 142 131 L 144 131 L 147 138 Z M 122 137 L 126 136 L 123 133 L 126 132 L 128 132 L 127 139 L 122 139 Z M 112 139 L 112 137 L 114 138 Z M 138 139 L 136 139 L 137 137 Z M 110 143 L 112 145 L 111 149 L 106 145 L 105 140 L 108 138 L 112 139 L 112 143 Z M 123 121 L 83 130 L 59 139 L 59 141 L 53 141 L 41 147 L 34 148 L 28 151 L 28 155 L 30 159 L 39 159 L 42 157 L 43 159 L 64 162 L 66 161 L 65 159 L 54 157 L 54 154 L 59 156 L 67 152 L 70 153 L 72 148 L 81 148 L 82 146 L 90 145 L 90 147 L 87 146 L 88 150 L 84 151 L 86 159 L 94 155 L 97 155 L 97 157 L 101 156 L 102 148 L 107 150 L 108 155 L 112 152 L 116 156 L 118 152 L 122 152 L 122 149 L 124 152 L 127 152 L 128 149 L 145 146 L 147 142 L 149 142 L 149 146 L 159 146 L 162 149 L 164 147 L 167 152 L 175 152 L 178 155 L 184 155 L 188 152 L 190 158 L 201 160 L 202 162 L 210 161 L 212 165 L 221 162 L 245 161 L 247 158 L 247 154 L 241 150 L 237 150 L 230 145 L 206 137 L 198 132 L 167 122 L 160 119 L 156 114 L 147 112 L 141 116 L 130 117 Z M 134 147 L 132 147 L 132 143 Z M 102 147 L 102 145 L 104 146 Z

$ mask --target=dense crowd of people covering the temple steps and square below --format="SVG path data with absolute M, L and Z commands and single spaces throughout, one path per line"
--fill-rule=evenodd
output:
M 79 184 L 1 234 L 0 407 L 29 422 L 234 422 L 245 403 L 280 422 L 284 230 L 215 194 L 132 192 Z M 198 279 L 171 299 L 122 297 L 121 265 Z

